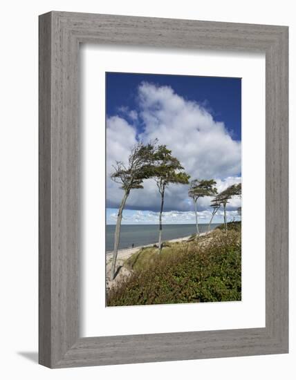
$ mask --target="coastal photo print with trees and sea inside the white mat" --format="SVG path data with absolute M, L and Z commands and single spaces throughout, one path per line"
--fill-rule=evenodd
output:
M 106 73 L 106 99 L 107 306 L 241 301 L 241 78 Z

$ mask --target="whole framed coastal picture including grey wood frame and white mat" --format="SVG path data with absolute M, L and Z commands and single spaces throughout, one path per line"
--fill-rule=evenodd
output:
M 39 17 L 39 363 L 288 352 L 288 27 Z

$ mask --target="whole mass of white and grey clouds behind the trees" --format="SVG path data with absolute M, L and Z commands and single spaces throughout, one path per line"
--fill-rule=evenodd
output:
M 138 87 L 138 108 L 121 108 L 120 115 L 107 118 L 107 207 L 117 208 L 122 198 L 119 185 L 109 175 L 116 160 L 127 161 L 137 142 L 158 138 L 172 150 L 193 178 L 214 178 L 222 191 L 241 182 L 241 142 L 232 139 L 223 122 L 216 122 L 209 108 L 188 101 L 169 86 L 144 82 Z M 139 133 L 140 131 L 140 133 Z M 154 180 L 145 180 L 145 189 L 131 191 L 127 209 L 158 211 L 159 193 Z M 209 208 L 210 199 L 199 202 L 199 211 Z M 236 209 L 239 199 L 228 209 Z M 165 211 L 190 211 L 187 186 L 172 184 L 165 194 Z M 208 211 L 210 212 L 210 211 Z M 180 217 L 180 216 L 178 216 Z

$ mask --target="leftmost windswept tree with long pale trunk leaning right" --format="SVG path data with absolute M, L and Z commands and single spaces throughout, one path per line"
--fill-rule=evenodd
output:
M 143 180 L 151 177 L 151 167 L 154 162 L 154 154 L 156 151 L 156 141 L 149 144 L 142 144 L 139 142 L 129 155 L 127 166 L 121 161 L 117 161 L 113 165 L 113 173 L 111 174 L 111 180 L 121 184 L 121 189 L 124 191 L 120 207 L 118 209 L 118 216 L 115 227 L 114 236 L 114 249 L 113 249 L 113 261 L 111 266 L 111 280 L 115 278 L 116 259 L 118 254 L 118 246 L 120 240 L 120 227 L 122 221 L 122 211 L 131 189 L 142 189 Z

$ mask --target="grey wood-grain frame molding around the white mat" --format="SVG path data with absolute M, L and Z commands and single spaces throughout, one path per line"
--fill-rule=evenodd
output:
M 266 327 L 80 338 L 80 43 L 266 54 Z M 100 321 L 98 321 L 100 323 Z M 39 17 L 39 363 L 288 352 L 288 27 L 84 13 Z

